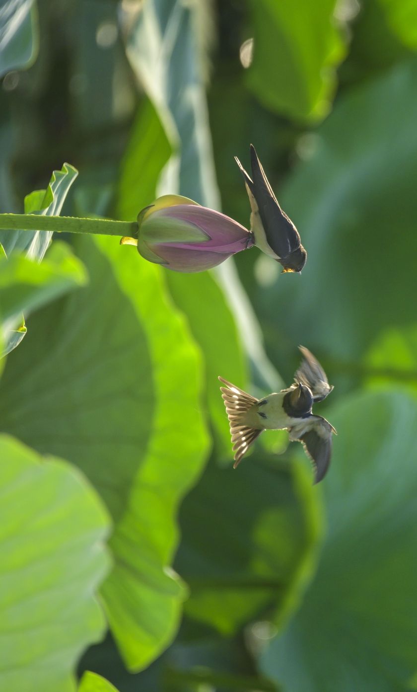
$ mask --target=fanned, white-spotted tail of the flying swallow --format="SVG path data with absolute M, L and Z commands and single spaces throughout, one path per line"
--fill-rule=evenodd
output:
M 226 413 L 228 414 L 230 435 L 234 451 L 234 464 L 236 468 L 248 448 L 261 434 L 262 430 L 252 428 L 245 423 L 245 413 L 258 403 L 258 399 L 251 397 L 247 392 L 239 389 L 232 383 L 219 377 L 219 380 L 226 385 L 221 387 L 221 396 L 225 403 Z

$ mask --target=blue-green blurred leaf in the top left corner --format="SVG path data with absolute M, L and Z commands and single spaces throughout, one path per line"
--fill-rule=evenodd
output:
M 0 77 L 29 67 L 37 56 L 39 35 L 34 0 L 3 0 L 0 7 Z

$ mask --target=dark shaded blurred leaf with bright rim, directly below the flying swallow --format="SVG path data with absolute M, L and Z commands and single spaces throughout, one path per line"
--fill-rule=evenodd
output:
M 180 511 L 185 612 L 223 635 L 267 606 L 283 623 L 311 578 L 320 535 L 311 473 L 256 463 L 257 454 L 239 471 L 210 465 Z

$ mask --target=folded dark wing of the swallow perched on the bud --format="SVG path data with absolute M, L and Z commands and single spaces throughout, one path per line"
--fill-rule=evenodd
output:
M 268 245 L 277 257 L 285 259 L 301 246 L 299 233 L 293 221 L 288 219 L 279 206 L 252 144 L 250 145 L 250 163 L 253 180 L 251 191 L 257 201 Z

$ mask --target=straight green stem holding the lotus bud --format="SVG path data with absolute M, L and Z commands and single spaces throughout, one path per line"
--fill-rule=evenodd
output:
M 78 219 L 77 217 L 41 216 L 37 214 L 0 214 L 0 229 L 53 230 L 55 233 L 93 233 L 94 235 L 138 237 L 137 221 Z

